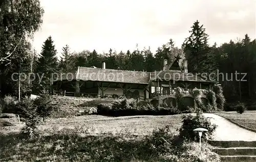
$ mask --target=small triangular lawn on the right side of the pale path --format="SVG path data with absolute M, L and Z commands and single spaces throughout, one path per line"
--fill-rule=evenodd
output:
M 216 113 L 230 122 L 256 132 L 256 110 L 245 111 L 240 114 L 236 111 Z

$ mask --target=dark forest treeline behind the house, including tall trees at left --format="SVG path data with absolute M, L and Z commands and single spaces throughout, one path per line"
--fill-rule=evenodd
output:
M 247 34 L 241 40 L 230 40 L 220 46 L 208 43 L 209 35 L 197 20 L 184 38 L 182 47 L 176 47 L 175 40 L 163 42 L 162 47 L 152 51 L 150 47 L 116 52 L 112 49 L 107 53 L 96 50 L 71 53 L 69 45 L 61 51 L 61 59 L 57 59 L 54 38 L 49 36 L 42 44 L 40 53 L 32 50 L 28 37 L 32 37 L 42 23 L 44 10 L 35 3 L 13 5 L 11 1 L 1 4 L 0 15 L 0 93 L 2 96 L 12 94 L 17 96 L 18 81 L 14 81 L 13 73 L 44 74 L 42 82 L 38 78 L 21 78 L 22 94 L 39 94 L 41 90 L 51 89 L 52 73 L 67 73 L 77 66 L 101 67 L 104 61 L 106 68 L 154 72 L 163 69 L 163 60 L 174 61 L 178 54 L 180 65 L 188 60 L 189 73 L 223 73 L 219 79 L 227 102 L 253 100 L 256 96 L 256 40 L 251 40 Z M 12 6 L 13 5 L 13 6 Z M 25 10 L 26 9 L 26 10 Z M 27 12 L 29 11 L 29 12 Z M 8 30 L 7 30 L 8 29 Z M 14 37 L 14 36 L 15 37 Z M 235 73 L 245 73 L 239 76 L 243 81 L 236 80 Z M 21 76 L 25 77 L 25 76 Z

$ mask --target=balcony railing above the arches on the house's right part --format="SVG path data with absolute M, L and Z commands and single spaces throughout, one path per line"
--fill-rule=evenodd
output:
M 167 90 L 159 90 L 159 91 L 156 91 L 156 92 L 153 92 L 151 94 L 151 98 L 154 98 L 154 97 L 157 97 L 157 96 L 168 96 L 168 95 L 175 95 L 176 94 L 176 91 L 175 91 L 176 88 L 174 89 L 167 89 Z M 182 90 L 182 94 L 193 94 L 193 89 L 181 89 Z M 207 89 L 200 89 L 203 93 L 203 95 L 206 95 L 208 90 Z

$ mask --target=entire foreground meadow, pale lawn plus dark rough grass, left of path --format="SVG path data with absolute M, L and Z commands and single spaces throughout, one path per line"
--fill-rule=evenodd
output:
M 176 145 L 182 115 L 104 117 L 82 115 L 49 118 L 40 122 L 36 138 L 20 134 L 15 126 L 0 127 L 2 161 L 178 161 L 193 159 L 218 161 L 204 144 L 206 155 L 199 154 L 198 143 Z M 177 148 L 178 147 L 178 148 Z M 183 150 L 183 151 L 181 151 Z M 186 150 L 186 151 L 184 151 Z

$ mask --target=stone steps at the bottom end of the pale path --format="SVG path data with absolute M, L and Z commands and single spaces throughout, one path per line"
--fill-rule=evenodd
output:
M 255 139 L 256 140 L 256 139 Z M 208 141 L 221 161 L 256 162 L 256 141 Z

